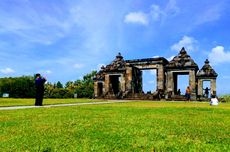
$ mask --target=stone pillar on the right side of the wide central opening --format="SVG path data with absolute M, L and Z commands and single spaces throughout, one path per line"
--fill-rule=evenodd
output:
M 163 65 L 157 65 L 157 87 L 156 89 L 164 90 L 164 81 L 165 81 L 165 75 L 164 75 L 164 67 Z

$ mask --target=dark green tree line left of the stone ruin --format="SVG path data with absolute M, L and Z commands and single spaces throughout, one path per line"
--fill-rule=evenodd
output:
M 93 98 L 93 77 L 96 71 L 83 76 L 83 79 L 68 81 L 63 85 L 47 82 L 45 84 L 45 98 Z M 35 97 L 35 77 L 21 76 L 0 78 L 0 96 L 8 93 L 11 98 L 34 98 Z

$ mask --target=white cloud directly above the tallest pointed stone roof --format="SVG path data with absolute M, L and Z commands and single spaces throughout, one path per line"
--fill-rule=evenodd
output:
M 183 36 L 183 38 L 171 46 L 171 50 L 180 51 L 182 47 L 185 47 L 186 51 L 196 51 L 197 50 L 197 40 L 193 37 Z

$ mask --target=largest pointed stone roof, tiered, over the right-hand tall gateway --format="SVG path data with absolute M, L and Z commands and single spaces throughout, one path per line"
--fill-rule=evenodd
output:
M 184 47 L 181 49 L 179 54 L 175 56 L 168 65 L 167 68 L 182 68 L 182 67 L 195 67 L 198 69 L 198 65 L 194 62 L 194 60 L 187 54 Z

